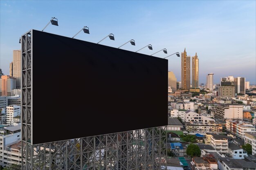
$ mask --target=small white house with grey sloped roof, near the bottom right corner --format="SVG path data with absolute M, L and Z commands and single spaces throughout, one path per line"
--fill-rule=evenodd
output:
M 245 159 L 247 152 L 234 143 L 229 143 L 229 156 L 234 159 Z

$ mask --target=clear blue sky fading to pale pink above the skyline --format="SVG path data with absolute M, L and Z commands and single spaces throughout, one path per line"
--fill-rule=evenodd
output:
M 115 41 L 101 44 L 118 47 L 130 39 L 136 46 L 123 49 L 137 51 L 147 44 L 151 55 L 166 48 L 166 57 L 186 48 L 187 55 L 199 58 L 199 82 L 214 73 L 220 77 L 245 77 L 256 84 L 256 1 L 0 1 L 0 68 L 9 75 L 12 51 L 20 49 L 20 35 L 29 29 L 42 30 L 51 17 L 59 26 L 49 25 L 45 32 L 72 37 L 83 26 L 90 35 L 80 33 L 77 39 L 98 42 L 109 33 Z M 53 47 L 54 48 L 54 47 Z M 169 71 L 180 80 L 181 59 L 169 57 Z M 75 70 L 71 71 L 76 74 Z

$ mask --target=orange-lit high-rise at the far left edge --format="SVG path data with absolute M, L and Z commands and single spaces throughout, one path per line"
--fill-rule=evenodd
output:
M 0 95 L 11 96 L 11 90 L 16 88 L 16 79 L 9 75 L 0 78 Z

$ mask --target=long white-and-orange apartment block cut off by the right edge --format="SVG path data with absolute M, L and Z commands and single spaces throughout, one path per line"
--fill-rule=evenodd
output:
M 242 121 L 238 119 L 226 120 L 227 131 L 233 133 L 237 137 L 244 139 L 245 132 L 256 132 L 255 126 L 248 121 Z

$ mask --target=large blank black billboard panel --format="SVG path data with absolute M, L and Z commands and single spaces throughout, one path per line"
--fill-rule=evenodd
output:
M 33 30 L 32 144 L 166 126 L 167 86 L 168 60 Z

